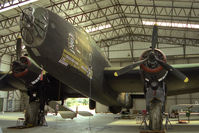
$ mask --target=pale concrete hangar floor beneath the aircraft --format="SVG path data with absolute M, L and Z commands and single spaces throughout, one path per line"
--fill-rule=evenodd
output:
M 47 116 L 48 126 L 34 127 L 28 129 L 8 129 L 15 126 L 17 118 L 23 117 L 22 113 L 0 113 L 0 127 L 3 133 L 139 133 L 140 124 L 136 120 L 116 119 L 119 115 L 95 114 L 91 117 L 78 116 L 77 118 L 62 119 L 60 116 Z M 194 116 L 195 117 L 195 116 Z M 171 121 L 173 128 L 167 130 L 168 133 L 198 133 L 199 119 L 191 121 L 189 124 L 176 124 L 176 120 Z M 0 130 L 0 133 L 1 133 Z

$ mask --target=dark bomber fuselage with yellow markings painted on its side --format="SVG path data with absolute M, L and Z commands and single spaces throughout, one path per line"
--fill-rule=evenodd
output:
M 120 106 L 118 93 L 104 81 L 104 68 L 110 63 L 91 37 L 47 9 L 36 8 L 35 14 L 35 19 L 46 16 L 47 27 L 42 41 L 26 45 L 30 57 L 79 93 L 108 106 Z M 37 40 L 34 34 L 32 37 Z

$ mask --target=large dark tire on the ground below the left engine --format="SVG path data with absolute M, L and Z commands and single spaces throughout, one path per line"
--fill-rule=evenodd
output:
M 27 125 L 27 126 L 38 126 L 39 110 L 40 110 L 40 103 L 31 102 L 26 107 L 24 125 Z

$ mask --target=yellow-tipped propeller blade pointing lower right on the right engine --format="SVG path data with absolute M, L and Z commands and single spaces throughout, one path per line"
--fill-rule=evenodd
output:
M 166 70 L 170 71 L 173 75 L 175 75 L 176 77 L 178 77 L 179 79 L 183 80 L 185 83 L 189 82 L 189 78 L 184 75 L 182 72 L 180 72 L 178 69 L 173 68 L 172 66 L 170 66 L 169 64 L 159 60 L 156 58 L 156 60 L 158 61 L 158 63 L 164 67 Z

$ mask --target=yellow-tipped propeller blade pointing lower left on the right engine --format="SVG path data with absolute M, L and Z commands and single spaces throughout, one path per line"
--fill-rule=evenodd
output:
M 148 60 L 148 58 L 146 58 L 146 59 L 144 59 L 144 60 L 140 60 L 140 61 L 138 61 L 138 62 L 135 62 L 135 63 L 133 63 L 133 64 L 131 64 L 131 65 L 129 65 L 129 66 L 126 66 L 126 67 L 124 67 L 124 68 L 118 70 L 117 72 L 115 72 L 115 73 L 114 73 L 114 76 L 117 77 L 117 76 L 120 76 L 120 75 L 122 75 L 122 74 L 125 74 L 125 73 L 129 72 L 130 70 L 132 70 L 133 68 L 135 68 L 135 67 L 137 67 L 137 66 L 143 64 L 143 63 L 146 62 L 147 60 Z

